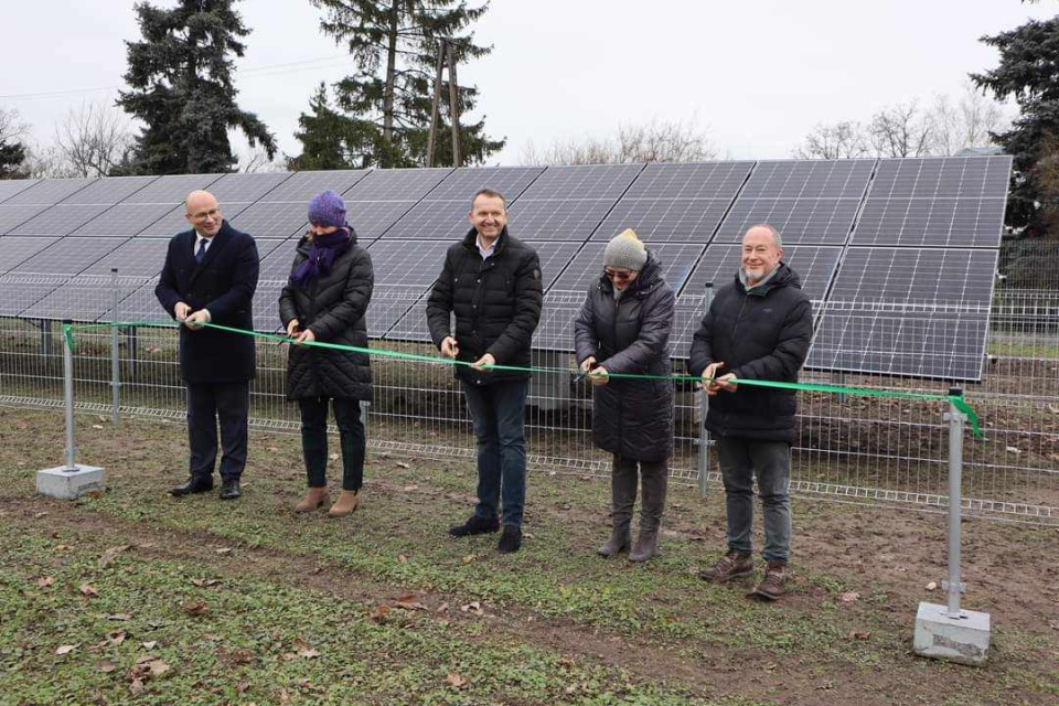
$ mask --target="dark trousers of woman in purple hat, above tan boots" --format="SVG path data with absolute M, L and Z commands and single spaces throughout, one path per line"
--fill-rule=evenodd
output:
M 334 408 L 342 448 L 342 490 L 361 490 L 364 484 L 364 456 L 367 440 L 361 419 L 361 403 L 356 399 L 307 397 L 298 400 L 301 407 L 301 452 L 306 458 L 309 488 L 328 484 L 328 403 Z

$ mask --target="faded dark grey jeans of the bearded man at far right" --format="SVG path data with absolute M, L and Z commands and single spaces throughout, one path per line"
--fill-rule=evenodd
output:
M 717 462 L 725 482 L 728 548 L 751 554 L 753 544 L 753 477 L 764 514 L 766 561 L 787 564 L 791 557 L 791 445 L 717 437 Z

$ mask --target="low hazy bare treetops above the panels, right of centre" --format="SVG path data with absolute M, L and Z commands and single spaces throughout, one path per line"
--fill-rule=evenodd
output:
M 630 162 L 700 162 L 717 150 L 704 130 L 682 121 L 651 120 L 620 125 L 616 139 L 558 140 L 544 149 L 532 141 L 522 150 L 523 164 L 614 164 Z

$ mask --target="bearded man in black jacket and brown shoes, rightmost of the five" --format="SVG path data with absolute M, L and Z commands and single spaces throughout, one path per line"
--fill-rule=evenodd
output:
M 739 385 L 739 379 L 798 382 L 813 336 L 813 309 L 798 275 L 781 261 L 770 225 L 742 238 L 742 267 L 721 288 L 695 332 L 688 360 L 710 396 L 706 427 L 717 442 L 725 483 L 728 553 L 699 576 L 727 581 L 753 574 L 753 477 L 764 514 L 764 577 L 752 596 L 783 595 L 791 542 L 791 445 L 795 393 Z

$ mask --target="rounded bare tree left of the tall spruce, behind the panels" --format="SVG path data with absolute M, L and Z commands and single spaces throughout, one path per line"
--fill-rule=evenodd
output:
M 55 126 L 55 147 L 78 176 L 106 176 L 126 163 L 133 138 L 121 113 L 98 104 L 68 110 Z

